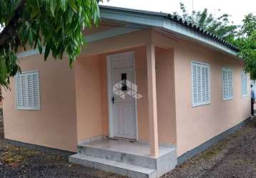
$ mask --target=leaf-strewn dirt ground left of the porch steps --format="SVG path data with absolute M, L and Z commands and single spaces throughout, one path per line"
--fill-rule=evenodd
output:
M 67 157 L 24 147 L 14 147 L 6 144 L 3 140 L 0 140 L 0 177 L 121 178 L 121 176 L 110 172 L 70 164 Z

